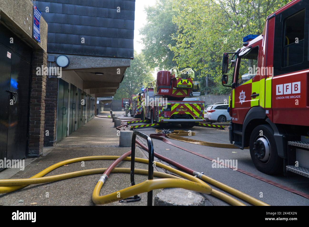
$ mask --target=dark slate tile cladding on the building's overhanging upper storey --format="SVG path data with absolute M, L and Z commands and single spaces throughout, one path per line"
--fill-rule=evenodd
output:
M 36 6 L 48 23 L 48 53 L 133 57 L 135 0 L 36 0 Z

